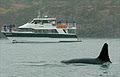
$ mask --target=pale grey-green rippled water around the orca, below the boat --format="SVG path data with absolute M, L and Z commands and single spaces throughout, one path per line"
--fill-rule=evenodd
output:
M 120 39 L 82 39 L 75 43 L 10 43 L 0 40 L 0 77 L 120 77 Z M 60 63 L 94 58 L 109 44 L 110 65 Z

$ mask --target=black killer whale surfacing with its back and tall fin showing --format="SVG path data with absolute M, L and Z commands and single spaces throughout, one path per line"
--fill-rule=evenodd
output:
M 61 61 L 61 63 L 65 63 L 65 64 L 70 64 L 70 63 L 103 64 L 105 62 L 112 63 L 109 58 L 107 43 L 104 44 L 97 58 L 82 58 L 82 59 L 72 59 L 67 61 Z

